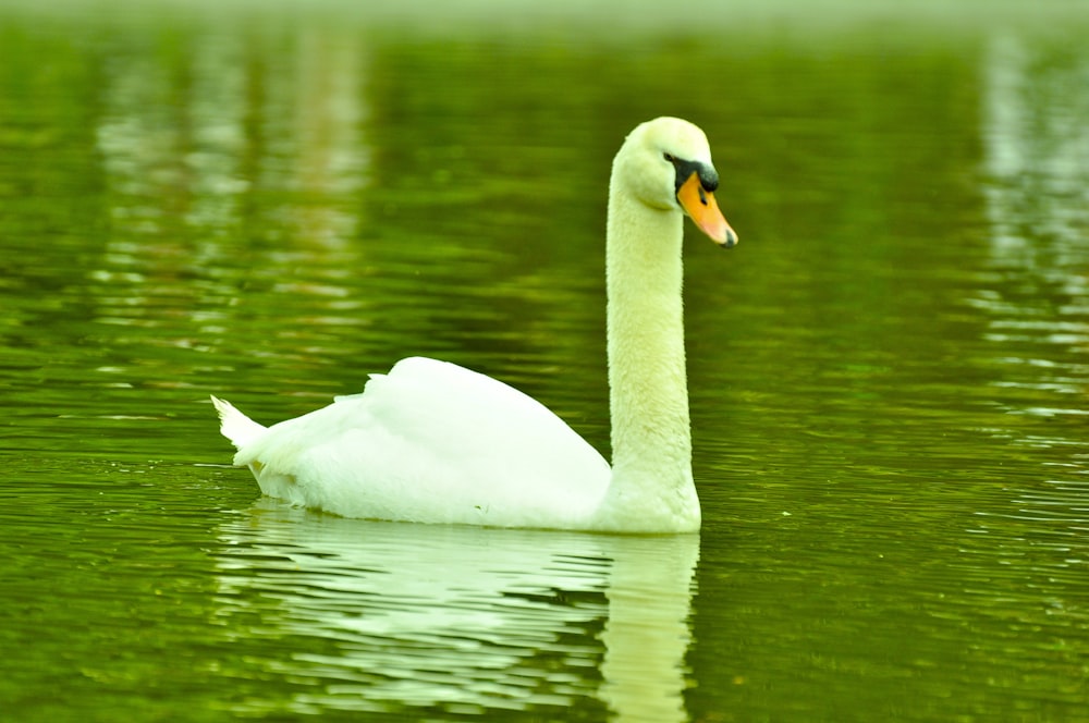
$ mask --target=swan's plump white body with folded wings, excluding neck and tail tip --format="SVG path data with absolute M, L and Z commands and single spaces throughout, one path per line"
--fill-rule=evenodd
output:
M 269 494 L 352 517 L 578 527 L 609 465 L 547 407 L 413 357 L 240 450 Z

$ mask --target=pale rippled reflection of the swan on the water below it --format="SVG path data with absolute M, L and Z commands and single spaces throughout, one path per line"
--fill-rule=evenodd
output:
M 271 644 L 266 673 L 306 682 L 268 707 L 687 719 L 697 536 L 369 523 L 262 500 L 221 539 L 228 629 Z

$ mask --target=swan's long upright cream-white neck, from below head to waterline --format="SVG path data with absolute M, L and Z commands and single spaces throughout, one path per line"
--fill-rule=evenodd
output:
M 613 476 L 601 513 L 648 531 L 699 528 L 685 373 L 680 210 L 610 184 L 607 232 Z M 633 519 L 634 518 L 634 519 Z

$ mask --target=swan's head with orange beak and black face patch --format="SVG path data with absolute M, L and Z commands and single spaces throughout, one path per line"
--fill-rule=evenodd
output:
M 616 154 L 613 183 L 652 208 L 684 212 L 724 248 L 737 243 L 714 200 L 719 174 L 707 136 L 688 121 L 656 118 L 636 126 Z

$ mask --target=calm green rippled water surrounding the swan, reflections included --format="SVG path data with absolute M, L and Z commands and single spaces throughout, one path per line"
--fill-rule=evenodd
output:
M 227 4 L 0 10 L 0 719 L 1089 720 L 1089 17 Z M 210 392 L 407 354 L 607 450 L 604 184 L 663 113 L 742 237 L 685 252 L 698 537 L 224 466 Z

